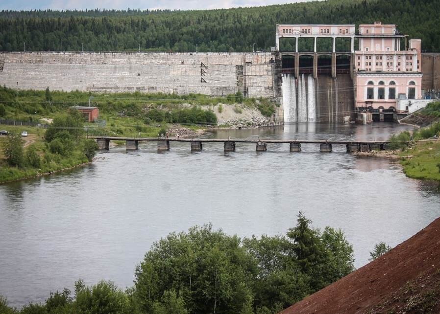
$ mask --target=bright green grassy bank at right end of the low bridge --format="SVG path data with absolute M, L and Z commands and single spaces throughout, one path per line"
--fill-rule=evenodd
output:
M 412 156 L 400 163 L 406 176 L 413 179 L 440 180 L 440 142 L 417 142 L 411 149 L 400 154 Z

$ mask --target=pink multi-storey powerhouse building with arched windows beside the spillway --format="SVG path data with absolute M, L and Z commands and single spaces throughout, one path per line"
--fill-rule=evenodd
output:
M 421 98 L 421 41 L 412 39 L 401 50 L 405 36 L 396 25 L 359 25 L 355 51 L 356 107 L 396 109 L 397 99 Z

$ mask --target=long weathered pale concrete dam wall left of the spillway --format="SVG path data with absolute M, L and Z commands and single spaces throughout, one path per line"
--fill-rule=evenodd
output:
M 0 53 L 10 88 L 275 97 L 274 57 L 258 53 Z M 17 84 L 18 83 L 18 84 Z

